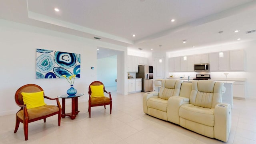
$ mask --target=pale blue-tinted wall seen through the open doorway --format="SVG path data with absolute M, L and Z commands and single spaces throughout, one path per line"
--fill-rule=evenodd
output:
M 117 56 L 109 56 L 97 60 L 97 80 L 105 87 L 116 86 L 117 79 Z

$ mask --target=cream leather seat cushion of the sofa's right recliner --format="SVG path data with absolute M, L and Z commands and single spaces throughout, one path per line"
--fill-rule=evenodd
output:
M 192 122 L 214 126 L 214 108 L 203 108 L 194 106 L 193 104 L 184 104 L 180 106 L 179 115 Z

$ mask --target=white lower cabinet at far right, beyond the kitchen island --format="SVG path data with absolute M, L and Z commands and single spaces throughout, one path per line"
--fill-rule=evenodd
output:
M 245 82 L 234 82 L 233 83 L 233 98 L 245 100 Z

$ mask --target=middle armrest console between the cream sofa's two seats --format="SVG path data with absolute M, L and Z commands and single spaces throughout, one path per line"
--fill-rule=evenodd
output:
M 180 124 L 180 106 L 188 104 L 189 99 L 181 96 L 172 96 L 167 102 L 167 120 L 175 124 Z

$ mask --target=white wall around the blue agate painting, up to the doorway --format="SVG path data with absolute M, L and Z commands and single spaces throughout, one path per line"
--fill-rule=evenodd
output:
M 0 115 L 17 112 L 19 107 L 14 101 L 14 94 L 24 84 L 38 84 L 44 89 L 46 96 L 53 98 L 65 94 L 70 87 L 65 79 L 35 78 L 36 48 L 81 54 L 81 78 L 75 80 L 74 87 L 79 93 L 84 93 L 79 101 L 87 101 L 88 86 L 92 81 L 97 80 L 96 48 L 98 46 L 121 50 L 127 55 L 127 48 L 123 46 L 0 19 Z M 121 61 L 125 61 L 124 56 Z M 122 64 L 125 70 L 126 63 Z M 92 66 L 96 69 L 91 70 Z M 128 86 L 125 84 L 127 72 L 125 75 L 124 70 L 118 74 L 121 93 L 128 91 Z

